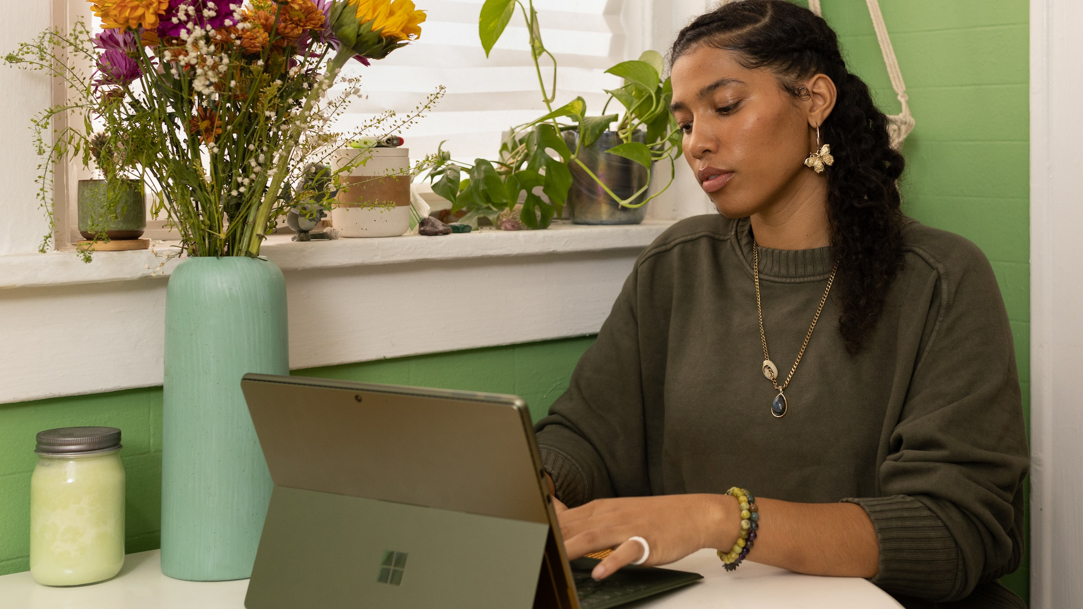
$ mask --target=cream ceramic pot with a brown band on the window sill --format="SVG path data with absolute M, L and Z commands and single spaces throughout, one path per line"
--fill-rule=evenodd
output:
M 331 206 L 331 224 L 343 237 L 395 237 L 409 230 L 409 150 L 343 148 L 335 154 L 337 171 L 358 155 L 368 160 L 343 176 Z

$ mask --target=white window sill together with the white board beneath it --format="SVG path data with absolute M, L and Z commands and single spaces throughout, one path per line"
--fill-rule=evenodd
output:
M 286 275 L 296 370 L 596 334 L 670 224 L 272 236 L 263 252 Z M 70 251 L 0 258 L 0 336 L 18 346 L 0 350 L 0 404 L 161 385 L 165 275 L 178 260 L 158 249 L 90 264 Z

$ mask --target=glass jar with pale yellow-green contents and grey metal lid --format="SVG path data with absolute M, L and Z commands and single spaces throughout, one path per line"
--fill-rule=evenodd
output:
M 120 430 L 66 427 L 38 433 L 30 478 L 30 573 L 50 586 L 108 580 L 125 563 Z

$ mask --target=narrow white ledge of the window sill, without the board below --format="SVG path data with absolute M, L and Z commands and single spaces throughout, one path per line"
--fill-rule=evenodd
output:
M 272 235 L 261 255 L 283 271 L 341 269 L 405 262 L 469 260 L 508 256 L 547 256 L 642 249 L 673 224 L 647 220 L 622 226 L 584 226 L 556 222 L 545 231 L 483 230 L 440 237 L 419 235 L 339 238 L 295 243 Z M 139 251 L 99 251 L 84 263 L 74 250 L 0 257 L 0 289 L 125 282 L 169 275 L 180 262 L 170 242 L 153 242 Z

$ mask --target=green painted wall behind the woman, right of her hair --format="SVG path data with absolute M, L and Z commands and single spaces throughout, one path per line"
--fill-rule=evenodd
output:
M 851 72 L 869 83 L 885 112 L 899 113 L 865 2 L 821 4 Z M 917 121 L 903 148 L 903 209 L 925 224 L 969 238 L 992 262 L 1012 322 L 1029 425 L 1029 3 L 879 4 Z M 1027 527 L 1029 540 L 1029 518 Z M 1030 593 L 1028 562 L 1002 580 L 1025 599 Z

